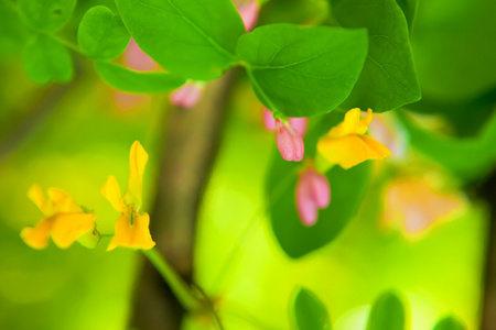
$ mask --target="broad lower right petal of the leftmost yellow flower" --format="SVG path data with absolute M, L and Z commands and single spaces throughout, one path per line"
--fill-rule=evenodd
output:
M 78 238 L 93 230 L 95 213 L 62 213 L 54 216 L 51 231 L 53 242 L 61 249 L 67 249 Z

